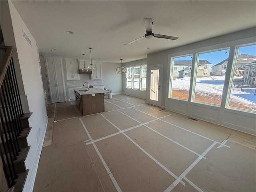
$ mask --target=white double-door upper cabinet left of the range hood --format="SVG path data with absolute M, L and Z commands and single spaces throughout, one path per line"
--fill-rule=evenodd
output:
M 67 80 L 79 80 L 78 61 L 65 58 Z

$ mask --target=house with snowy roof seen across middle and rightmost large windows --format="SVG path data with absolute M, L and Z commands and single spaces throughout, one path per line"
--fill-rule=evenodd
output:
M 256 56 L 253 56 L 253 55 L 247 55 L 247 54 L 238 55 L 236 60 L 235 75 L 243 75 L 244 74 L 243 66 L 251 62 L 254 62 L 255 60 L 256 60 Z M 212 74 L 225 75 L 227 64 L 228 64 L 228 59 L 225 59 L 222 62 L 212 66 Z

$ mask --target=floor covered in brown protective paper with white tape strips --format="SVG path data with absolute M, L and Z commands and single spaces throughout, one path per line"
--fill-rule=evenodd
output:
M 256 191 L 255 136 L 124 94 L 105 110 L 50 104 L 35 192 Z

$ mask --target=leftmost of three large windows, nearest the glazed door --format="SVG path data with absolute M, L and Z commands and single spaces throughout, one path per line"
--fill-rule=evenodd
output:
M 176 57 L 171 62 L 172 83 L 170 84 L 169 98 L 188 100 L 191 73 L 189 70 L 184 70 L 184 65 L 192 65 L 192 55 Z

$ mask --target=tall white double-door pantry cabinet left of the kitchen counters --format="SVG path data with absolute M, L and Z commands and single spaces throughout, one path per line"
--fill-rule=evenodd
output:
M 45 58 L 48 85 L 52 103 L 65 102 L 65 84 L 61 58 Z

